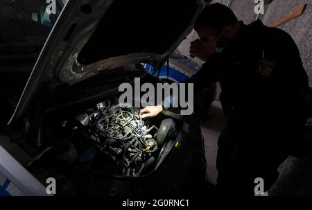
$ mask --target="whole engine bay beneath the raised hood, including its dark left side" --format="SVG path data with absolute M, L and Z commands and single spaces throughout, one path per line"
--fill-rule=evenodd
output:
M 68 110 L 46 116 L 51 129 L 45 128 L 44 141 L 59 139 L 60 143 L 44 149 L 28 164 L 28 169 L 43 166 L 53 177 L 58 174 L 66 180 L 65 186 L 85 171 L 118 177 L 147 175 L 164 161 L 177 137 L 177 121 L 162 114 L 142 119 L 139 108 L 119 105 L 117 97 L 83 105 L 70 114 Z M 64 113 L 67 116 L 60 121 Z M 53 119 L 58 128 L 52 128 Z

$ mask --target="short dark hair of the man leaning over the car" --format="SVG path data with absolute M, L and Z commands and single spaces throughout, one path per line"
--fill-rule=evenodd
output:
M 213 3 L 202 10 L 194 29 L 198 30 L 200 26 L 210 26 L 220 32 L 224 26 L 234 24 L 236 21 L 238 19 L 230 8 L 220 3 Z

